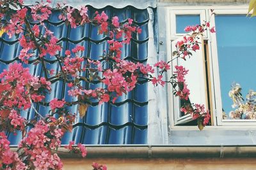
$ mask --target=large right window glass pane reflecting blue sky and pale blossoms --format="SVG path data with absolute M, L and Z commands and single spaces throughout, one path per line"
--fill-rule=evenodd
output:
M 223 118 L 255 118 L 254 112 L 256 114 L 256 111 L 253 106 L 256 103 L 255 101 L 246 101 L 246 94 L 251 89 L 256 90 L 256 17 L 216 15 L 215 22 L 221 100 L 223 112 L 226 115 Z M 236 106 L 232 107 L 234 103 L 228 95 L 232 89 L 232 84 L 237 87 L 232 90 L 232 96 L 239 99 L 238 92 L 240 91 L 239 85 L 234 83 L 241 85 L 241 95 L 244 101 L 240 100 L 240 103 L 238 102 Z M 246 102 L 248 103 L 246 104 Z

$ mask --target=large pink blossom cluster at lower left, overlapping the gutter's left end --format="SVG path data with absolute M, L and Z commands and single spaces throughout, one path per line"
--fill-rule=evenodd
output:
M 19 148 L 24 150 L 26 160 L 31 162 L 37 169 L 62 169 L 63 164 L 56 153 L 51 150 L 61 145 L 61 129 L 51 127 L 43 121 L 36 123 L 26 138 L 19 143 Z

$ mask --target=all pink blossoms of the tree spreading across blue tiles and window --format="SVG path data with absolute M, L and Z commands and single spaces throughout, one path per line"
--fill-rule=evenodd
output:
M 36 4 L 31 7 L 31 17 L 35 21 L 39 21 L 40 25 L 45 28 L 44 34 L 40 34 L 40 27 L 38 25 L 33 25 L 29 27 L 28 19 L 26 18 L 28 14 L 28 7 L 22 6 L 22 0 L 15 0 L 14 3 L 18 3 L 17 6 L 24 7 L 17 10 L 17 13 L 13 14 L 10 18 L 10 23 L 4 25 L 3 29 L 11 37 L 14 34 L 20 34 L 26 29 L 26 34 L 22 35 L 19 39 L 22 50 L 19 55 L 19 59 L 24 63 L 28 63 L 30 57 L 33 57 L 34 51 L 37 49 L 40 53 L 41 62 L 44 65 L 45 55 L 55 56 L 58 51 L 61 50 L 61 46 L 58 45 L 58 39 L 54 36 L 53 32 L 47 30 L 44 26 L 44 20 L 49 18 L 52 8 L 49 6 L 50 0 L 47 3 L 41 1 L 41 3 Z M 133 25 L 133 20 L 128 18 L 128 22 L 122 24 L 119 22 L 118 17 L 108 18 L 108 15 L 102 11 L 102 13 L 96 12 L 95 17 L 90 20 L 88 18 L 88 8 L 82 6 L 79 10 L 67 6 L 65 8 L 59 8 L 61 10 L 61 15 L 59 18 L 65 20 L 67 24 L 70 24 L 72 28 L 76 28 L 78 25 L 91 23 L 93 25 L 99 26 L 99 33 L 109 34 L 111 40 L 109 43 L 109 53 L 102 57 L 100 60 L 88 60 L 88 67 L 83 67 L 82 57 L 71 57 L 71 52 L 66 51 L 64 57 L 57 57 L 60 60 L 61 73 L 56 73 L 58 78 L 63 78 L 67 80 L 71 75 L 72 80 L 66 81 L 70 96 L 76 96 L 79 103 L 90 101 L 90 99 L 98 99 L 99 104 L 103 102 L 109 102 L 111 99 L 115 103 L 116 97 L 122 96 L 127 92 L 134 89 L 138 78 L 144 78 L 147 81 L 152 81 L 154 85 L 160 84 L 164 85 L 163 73 L 170 69 L 169 62 L 160 61 L 154 64 L 154 67 L 161 69 L 160 74 L 157 77 L 153 77 L 150 73 L 154 73 L 154 69 L 149 64 L 144 65 L 141 63 L 134 63 L 121 58 L 121 49 L 124 43 L 129 43 L 132 39 L 132 33 L 140 33 L 140 27 Z M 0 17 L 4 17 L 5 13 L 0 13 Z M 22 27 L 26 25 L 26 27 Z M 1 25 L 2 26 L 2 25 Z M 202 25 L 189 26 L 186 27 L 186 31 L 193 31 L 195 34 L 184 36 L 182 41 L 177 42 L 177 55 L 186 59 L 186 57 L 191 57 L 192 53 L 189 50 L 196 51 L 199 50 L 198 38 L 196 35 L 202 34 L 207 28 L 209 28 L 209 23 L 205 22 Z M 214 27 L 210 29 L 211 32 L 214 31 Z M 122 39 L 121 39 L 122 38 Z M 114 39 L 119 39 L 116 41 Z M 120 40 L 121 39 L 121 40 Z M 72 49 L 72 52 L 78 53 L 83 52 L 83 46 L 76 46 Z M 102 65 L 108 63 L 110 68 L 103 69 Z M 90 67 L 90 64 L 97 66 Z M 182 66 L 175 67 L 177 71 L 175 73 L 177 76 L 176 83 L 179 90 L 176 95 L 180 99 L 188 101 L 189 99 L 189 89 L 187 88 L 184 76 L 188 71 Z M 45 71 L 45 73 L 48 70 Z M 78 72 L 88 71 L 90 76 L 93 78 L 98 78 L 102 81 L 107 88 L 102 89 L 84 89 L 81 87 L 77 80 L 87 78 L 79 76 Z M 50 71 L 52 73 L 52 71 Z M 102 77 L 98 76 L 98 73 L 102 72 Z M 28 69 L 25 69 L 21 64 L 11 64 L 9 71 L 4 70 L 0 74 L 0 94 L 3 96 L 0 99 L 0 104 L 3 105 L 3 109 L 0 110 L 0 131 L 22 131 L 25 129 L 26 124 L 29 120 L 25 120 L 19 115 L 19 110 L 17 109 L 28 109 L 31 107 L 32 102 L 43 101 L 44 92 L 51 91 L 51 83 L 45 78 L 38 78 L 31 76 Z M 91 77 L 90 77 L 91 79 Z M 169 82 L 169 81 L 168 81 Z M 57 108 L 64 108 L 65 101 L 58 101 L 58 99 L 53 99 L 49 105 L 54 112 Z M 203 125 L 207 125 L 210 119 L 209 111 L 205 111 L 204 105 L 188 104 L 181 108 L 184 113 L 189 113 L 194 119 L 199 119 L 202 121 Z M 1 106 L 2 106 L 1 105 Z M 194 107 L 194 108 L 193 108 Z M 59 113 L 60 112 L 60 113 Z M 74 123 L 74 115 L 69 113 L 64 113 L 65 111 L 56 111 L 54 114 L 59 114 L 58 119 L 50 117 L 47 115 L 45 118 L 40 117 L 40 121 L 32 124 L 35 125 L 28 134 L 22 139 L 19 145 L 19 149 L 24 151 L 24 155 L 18 155 L 13 153 L 8 148 L 10 142 L 6 139 L 3 133 L 0 133 L 0 166 L 6 169 L 26 169 L 29 166 L 30 169 L 61 169 L 63 167 L 60 158 L 56 153 L 52 154 L 51 150 L 60 147 L 60 140 L 63 136 L 63 132 L 72 131 L 72 123 Z M 39 114 L 40 113 L 36 113 Z M 10 128 L 11 127 L 11 128 Z M 77 144 L 78 148 L 74 148 L 74 141 L 70 142 L 70 145 L 66 146 L 71 152 L 81 153 L 83 157 L 86 156 L 86 148 L 80 143 Z M 21 157 L 21 159 L 19 158 Z M 22 163 L 20 160 L 24 160 L 26 164 Z M 28 163 L 27 163 L 28 162 Z M 95 170 L 105 170 L 106 166 L 93 163 L 93 169 Z

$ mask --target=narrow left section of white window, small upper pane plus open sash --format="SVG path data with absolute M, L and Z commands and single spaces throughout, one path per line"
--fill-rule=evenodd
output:
M 175 44 L 177 41 L 180 41 L 184 35 L 188 34 L 184 31 L 184 28 L 187 25 L 200 24 L 204 22 L 204 20 L 205 10 L 170 10 L 170 53 L 176 50 Z M 207 34 L 204 35 L 204 38 L 200 38 L 200 51 L 197 51 L 196 53 L 193 52 L 193 57 L 188 59 L 188 61 L 183 59 L 173 60 L 172 68 L 174 69 L 174 66 L 182 65 L 189 70 L 189 74 L 186 75 L 186 82 L 188 83 L 188 89 L 191 93 L 189 96 L 189 101 L 191 103 L 204 104 L 207 108 L 209 108 L 207 102 L 208 99 L 206 82 L 207 67 L 205 67 L 204 52 L 204 39 L 206 38 Z M 170 59 L 172 59 L 171 56 Z M 196 125 L 196 122 L 193 121 L 190 115 L 184 115 L 184 113 L 180 111 L 182 100 L 175 96 L 172 96 L 171 100 L 173 101 L 173 110 L 171 112 L 174 113 L 174 125 Z

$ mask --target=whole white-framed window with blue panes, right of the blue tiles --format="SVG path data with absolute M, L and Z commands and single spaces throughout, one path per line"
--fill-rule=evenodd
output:
M 253 78 L 256 74 L 253 67 L 256 63 L 253 51 L 256 49 L 256 18 L 246 17 L 247 6 L 199 6 L 188 10 L 189 8 L 191 7 L 169 8 L 168 45 L 171 49 L 168 51 L 168 60 L 172 59 L 175 43 L 186 34 L 184 27 L 203 23 L 204 20 L 210 20 L 211 26 L 216 27 L 215 34 L 205 32 L 200 41 L 200 51 L 194 53 L 191 59 L 173 62 L 173 68 L 181 64 L 189 69 L 189 74 L 186 75 L 191 91 L 189 101 L 205 104 L 211 111 L 211 125 L 256 125 L 256 93 L 250 91 L 256 90 L 256 80 Z M 244 101 L 240 99 L 239 85 Z M 233 96 L 236 92 L 236 104 L 228 96 L 230 90 Z M 248 92 L 250 99 L 246 97 Z M 172 95 L 170 102 L 170 113 L 173 113 L 170 115 L 171 124 L 195 124 L 189 115 L 180 112 L 180 99 Z

